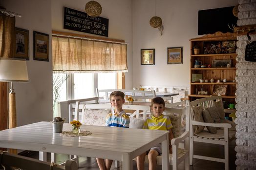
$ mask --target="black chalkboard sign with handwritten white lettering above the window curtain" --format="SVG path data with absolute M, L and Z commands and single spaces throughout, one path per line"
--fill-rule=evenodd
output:
M 90 17 L 85 12 L 64 7 L 63 28 L 89 34 L 108 36 L 108 19 Z

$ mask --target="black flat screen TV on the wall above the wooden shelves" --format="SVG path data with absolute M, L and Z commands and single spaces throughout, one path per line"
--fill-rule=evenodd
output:
M 233 32 L 229 28 L 236 25 L 237 17 L 233 15 L 234 6 L 198 11 L 198 35 Z M 229 26 L 228 26 L 229 25 Z

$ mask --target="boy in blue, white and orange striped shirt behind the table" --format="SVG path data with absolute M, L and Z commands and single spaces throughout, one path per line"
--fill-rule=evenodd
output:
M 113 91 L 110 96 L 111 106 L 114 107 L 112 113 L 106 118 L 106 126 L 129 128 L 130 119 L 123 110 L 125 94 L 121 91 Z M 113 160 L 96 158 L 100 170 L 110 170 Z

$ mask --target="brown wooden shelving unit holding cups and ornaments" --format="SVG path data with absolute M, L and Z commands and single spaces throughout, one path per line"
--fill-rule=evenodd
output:
M 191 101 L 209 97 L 213 93 L 214 85 L 227 85 L 227 93 L 225 95 L 221 95 L 223 101 L 225 103 L 235 103 L 235 90 L 236 90 L 236 53 L 233 51 L 232 53 L 228 53 L 229 51 L 224 51 L 227 53 L 211 53 L 205 54 L 206 44 L 220 42 L 220 44 L 232 43 L 236 41 L 236 37 L 232 33 L 223 34 L 221 32 L 217 32 L 215 34 L 208 34 L 199 38 L 193 38 L 191 41 L 191 65 L 190 65 L 190 73 L 191 73 L 191 83 L 190 83 L 190 95 L 189 98 Z M 224 43 L 223 43 L 224 42 Z M 194 54 L 193 47 L 199 46 L 200 53 Z M 222 47 L 221 47 L 222 48 Z M 233 49 L 234 50 L 234 49 Z M 219 67 L 219 68 L 194 68 L 195 60 L 200 60 L 203 65 L 208 66 L 209 64 L 212 65 L 213 60 L 221 60 L 221 59 L 229 59 L 231 60 L 231 67 Z M 200 83 L 200 82 L 192 82 L 192 74 L 202 74 L 203 79 L 207 79 L 208 83 Z M 211 83 L 211 79 L 214 79 L 214 82 Z M 226 79 L 227 82 L 222 82 L 223 79 Z M 220 80 L 220 83 L 217 83 L 216 80 Z M 207 95 L 198 95 L 196 92 L 207 91 Z M 227 107 L 224 106 L 224 107 Z

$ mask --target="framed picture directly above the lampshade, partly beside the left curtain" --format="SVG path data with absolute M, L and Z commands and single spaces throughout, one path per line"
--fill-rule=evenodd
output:
M 29 60 L 29 31 L 15 28 L 15 44 L 13 48 L 14 58 Z

